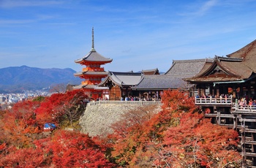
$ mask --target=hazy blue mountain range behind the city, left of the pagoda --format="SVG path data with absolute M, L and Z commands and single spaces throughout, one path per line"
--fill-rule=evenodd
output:
M 0 93 L 21 93 L 23 90 L 49 88 L 56 84 L 79 85 L 81 79 L 75 70 L 40 69 L 29 66 L 11 66 L 0 69 Z

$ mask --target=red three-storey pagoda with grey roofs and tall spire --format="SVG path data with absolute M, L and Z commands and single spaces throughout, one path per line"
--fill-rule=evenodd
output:
M 92 99 L 102 99 L 103 93 L 108 91 L 108 88 L 98 87 L 97 85 L 101 83 L 102 78 L 108 76 L 108 72 L 105 72 L 101 65 L 112 61 L 112 59 L 105 58 L 94 49 L 94 28 L 92 28 L 91 51 L 83 58 L 75 60 L 75 63 L 86 67 L 83 68 L 82 72 L 75 73 L 75 77 L 80 77 L 84 80 L 80 85 L 75 86 L 74 89 L 83 89 Z

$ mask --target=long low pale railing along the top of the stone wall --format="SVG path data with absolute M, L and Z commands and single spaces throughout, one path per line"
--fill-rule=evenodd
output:
M 162 104 L 160 101 L 96 101 L 89 102 L 87 105 L 94 106 L 97 104 L 138 104 L 138 105 L 150 105 L 150 104 Z

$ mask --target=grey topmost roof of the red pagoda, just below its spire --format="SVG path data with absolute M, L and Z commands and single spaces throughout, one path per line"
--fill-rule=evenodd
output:
M 95 50 L 91 50 L 86 56 L 75 60 L 75 63 L 80 63 L 82 61 L 99 61 L 99 62 L 111 62 L 113 59 L 105 58 L 104 56 L 97 53 Z

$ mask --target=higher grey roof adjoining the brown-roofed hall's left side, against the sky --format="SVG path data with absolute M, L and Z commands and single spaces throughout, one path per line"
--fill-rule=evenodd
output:
M 173 77 L 193 77 L 203 68 L 208 61 L 213 61 L 212 58 L 192 59 L 192 60 L 173 60 L 170 69 L 165 72 L 165 75 Z

